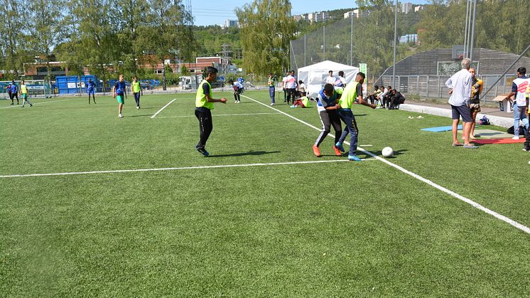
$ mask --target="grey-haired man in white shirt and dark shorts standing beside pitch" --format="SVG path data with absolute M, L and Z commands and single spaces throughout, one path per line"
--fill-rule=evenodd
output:
M 453 112 L 453 147 L 462 146 L 457 139 L 458 123 L 460 122 L 460 116 L 462 116 L 463 132 L 462 138 L 464 139 L 464 148 L 477 149 L 478 147 L 470 144 L 470 130 L 471 130 L 471 111 L 470 111 L 470 95 L 471 95 L 471 83 L 472 75 L 469 72 L 471 67 L 470 58 L 464 58 L 462 60 L 462 70 L 455 73 L 449 80 L 445 82 L 445 86 L 449 88 L 449 104 L 451 105 L 451 111 Z

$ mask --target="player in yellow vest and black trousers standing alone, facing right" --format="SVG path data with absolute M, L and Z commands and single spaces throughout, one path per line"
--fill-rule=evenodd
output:
M 212 84 L 217 80 L 217 68 L 212 68 L 208 66 L 206 69 L 206 78 L 202 80 L 198 89 L 197 95 L 195 96 L 195 117 L 199 120 L 200 127 L 200 140 L 195 149 L 204 156 L 210 155 L 206 151 L 206 141 L 210 134 L 212 133 L 213 123 L 212 123 L 212 111 L 214 102 L 227 103 L 227 99 L 222 97 L 220 100 L 213 98 Z

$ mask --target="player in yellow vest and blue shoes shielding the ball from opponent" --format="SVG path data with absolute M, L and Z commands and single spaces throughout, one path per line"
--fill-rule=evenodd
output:
M 348 154 L 348 159 L 350 161 L 361 161 L 357 157 L 357 137 L 359 134 L 359 129 L 357 128 L 357 122 L 355 121 L 355 116 L 352 112 L 352 105 L 355 100 L 359 101 L 359 104 L 366 105 L 367 107 L 376 108 L 376 105 L 372 105 L 369 102 L 364 101 L 362 98 L 362 83 L 364 83 L 365 75 L 364 73 L 357 73 L 355 76 L 355 82 L 348 83 L 342 92 L 342 97 L 339 100 L 339 116 L 342 119 L 342 122 L 346 124 L 345 129 L 342 131 L 339 142 L 335 144 L 335 147 L 344 152 L 344 147 L 342 147 L 342 142 L 346 139 L 348 133 L 350 133 L 350 152 Z

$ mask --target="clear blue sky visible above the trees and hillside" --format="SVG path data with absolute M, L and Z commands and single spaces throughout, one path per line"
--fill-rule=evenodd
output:
M 404 0 L 401 0 L 404 1 Z M 413 4 L 424 4 L 427 0 L 409 0 Z M 191 9 L 195 17 L 195 25 L 221 25 L 225 20 L 237 20 L 234 9 L 252 0 L 191 0 Z M 357 7 L 355 0 L 323 1 L 323 0 L 291 0 L 291 14 L 308 14 L 313 11 L 330 11 Z

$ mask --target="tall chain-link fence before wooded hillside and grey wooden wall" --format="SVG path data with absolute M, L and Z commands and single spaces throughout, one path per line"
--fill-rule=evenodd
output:
M 467 22 L 472 20 L 468 3 L 473 0 L 400 3 L 397 21 L 390 4 L 352 11 L 350 17 L 325 23 L 292 41 L 291 69 L 298 73 L 298 68 L 324 60 L 357 67 L 367 63 L 368 91 L 376 84 L 390 85 L 406 94 L 448 98 L 445 80 L 471 54 L 464 44 L 474 28 L 473 67 L 484 80 L 483 92 L 491 88 L 483 100 L 491 100 L 511 91 L 517 68 L 530 70 L 530 50 L 524 53 L 530 45 L 530 35 L 524 33 L 530 1 L 477 1 L 474 24 Z

